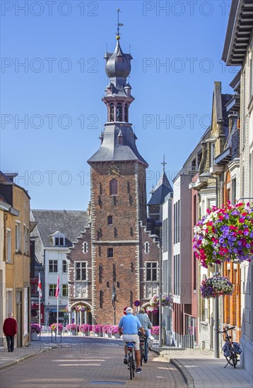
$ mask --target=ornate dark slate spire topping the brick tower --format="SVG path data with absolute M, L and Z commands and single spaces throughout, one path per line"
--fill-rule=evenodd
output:
M 102 101 L 107 107 L 107 122 L 105 130 L 100 135 L 102 143 L 100 149 L 95 152 L 90 162 L 110 161 L 139 161 L 146 166 L 147 162 L 141 157 L 136 147 L 136 135 L 129 123 L 129 107 L 134 101 L 131 95 L 131 85 L 127 81 L 131 72 L 131 54 L 126 54 L 120 47 L 119 8 L 116 47 L 114 52 L 105 53 L 105 73 L 109 78 Z

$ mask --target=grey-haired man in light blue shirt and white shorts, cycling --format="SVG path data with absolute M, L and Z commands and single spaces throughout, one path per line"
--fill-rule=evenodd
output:
M 143 335 L 145 332 L 141 326 L 141 322 L 137 317 L 133 315 L 133 309 L 128 307 L 126 310 L 127 315 L 123 315 L 122 319 L 119 321 L 119 334 L 123 334 L 123 339 L 125 342 L 124 346 L 124 364 L 127 364 L 127 342 L 134 343 L 134 351 L 136 358 L 136 373 L 141 373 L 140 363 L 140 341 L 138 332 L 140 331 Z

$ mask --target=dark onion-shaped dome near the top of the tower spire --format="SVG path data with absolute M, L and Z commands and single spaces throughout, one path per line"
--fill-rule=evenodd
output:
M 117 41 L 114 53 L 108 59 L 105 65 L 105 72 L 108 77 L 123 77 L 127 78 L 131 71 L 131 63 L 127 56 L 124 55 L 119 41 Z

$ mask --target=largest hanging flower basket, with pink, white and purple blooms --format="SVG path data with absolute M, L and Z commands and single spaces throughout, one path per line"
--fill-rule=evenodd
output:
M 194 252 L 203 267 L 253 259 L 253 204 L 213 206 L 194 226 Z

